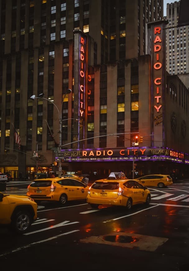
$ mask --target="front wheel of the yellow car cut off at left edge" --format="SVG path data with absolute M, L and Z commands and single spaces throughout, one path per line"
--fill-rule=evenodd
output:
M 28 231 L 32 223 L 32 216 L 27 211 L 16 212 L 12 217 L 11 229 L 12 231 L 23 234 Z

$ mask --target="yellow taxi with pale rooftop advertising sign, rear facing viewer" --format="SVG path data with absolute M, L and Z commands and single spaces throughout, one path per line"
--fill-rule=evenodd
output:
M 150 200 L 150 191 L 147 187 L 135 180 L 120 178 L 120 175 L 114 172 L 111 172 L 107 179 L 95 181 L 87 195 L 87 203 L 92 208 L 108 204 L 125 206 L 129 210 L 135 204 L 149 204 Z

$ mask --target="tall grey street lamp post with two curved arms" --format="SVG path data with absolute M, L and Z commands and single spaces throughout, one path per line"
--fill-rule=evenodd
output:
M 58 107 L 55 105 L 54 102 L 44 98 L 44 93 L 41 93 L 39 96 L 40 97 L 35 97 L 35 95 L 32 95 L 30 97 L 31 100 L 35 100 L 35 99 L 44 99 L 44 100 L 47 100 L 48 102 L 51 102 L 55 107 L 56 109 L 58 110 L 58 114 L 59 114 L 59 152 L 61 151 L 61 148 L 62 148 L 62 106 L 63 106 L 63 102 L 64 102 L 64 98 L 66 96 L 66 94 L 69 94 L 71 93 L 72 90 L 71 89 L 67 89 L 66 93 L 64 94 L 64 97 L 62 99 L 62 104 L 61 104 L 61 110 L 59 111 Z M 61 163 L 61 159 L 59 159 L 59 178 L 61 177 L 61 174 L 62 174 L 62 163 Z

